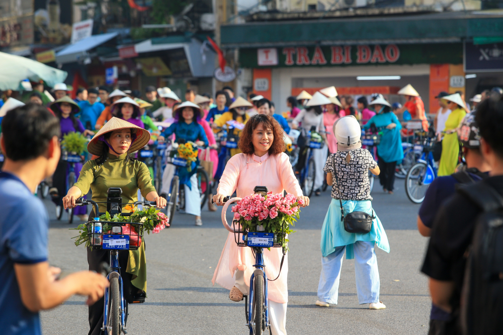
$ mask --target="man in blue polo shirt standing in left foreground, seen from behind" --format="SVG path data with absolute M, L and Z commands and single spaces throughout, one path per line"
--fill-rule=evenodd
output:
M 0 327 L 3 335 L 41 334 L 39 311 L 58 306 L 73 294 L 88 304 L 104 294 L 108 281 L 82 271 L 58 280 L 60 269 L 47 261 L 49 217 L 33 194 L 56 169 L 59 120 L 47 108 L 27 105 L 8 111 L 0 145 Z

